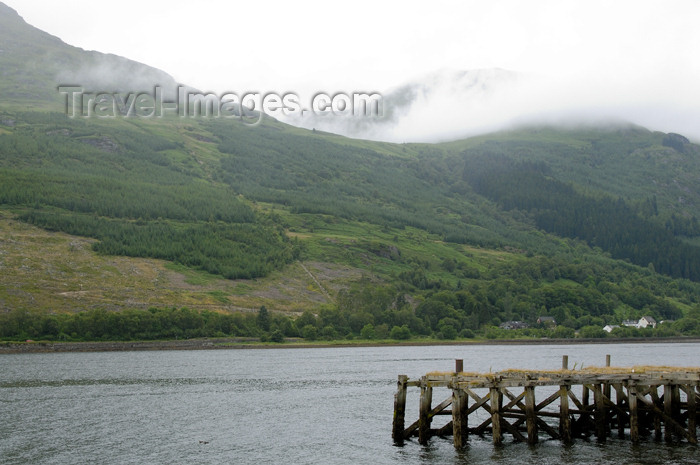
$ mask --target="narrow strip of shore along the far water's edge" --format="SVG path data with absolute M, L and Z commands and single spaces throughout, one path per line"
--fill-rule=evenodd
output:
M 610 338 L 610 339 L 491 339 L 477 341 L 411 341 L 411 342 L 284 342 L 260 343 L 235 338 L 187 339 L 176 341 L 95 341 L 95 342 L 0 342 L 2 354 L 36 354 L 64 352 L 129 352 L 149 350 L 243 350 L 243 349 L 329 349 L 348 347 L 415 347 L 472 345 L 579 345 L 579 344 L 663 344 L 700 343 L 698 337 L 673 338 Z

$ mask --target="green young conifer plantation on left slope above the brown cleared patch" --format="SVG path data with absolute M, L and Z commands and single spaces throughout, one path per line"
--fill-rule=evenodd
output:
M 100 239 L 101 253 L 163 258 L 230 279 L 264 276 L 298 254 L 231 189 L 175 165 L 166 153 L 178 146 L 163 136 L 62 114 L 11 118 L 12 133 L 0 135 L 0 203 L 28 206 L 24 221 Z

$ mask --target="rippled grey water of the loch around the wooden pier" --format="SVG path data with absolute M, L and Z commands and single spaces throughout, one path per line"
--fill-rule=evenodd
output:
M 578 439 L 391 440 L 398 374 L 699 366 L 700 344 L 381 347 L 0 356 L 0 464 L 700 464 L 700 448 Z M 440 402 L 447 391 L 436 391 Z M 439 397 L 439 398 L 438 398 Z M 417 418 L 409 394 L 407 422 Z

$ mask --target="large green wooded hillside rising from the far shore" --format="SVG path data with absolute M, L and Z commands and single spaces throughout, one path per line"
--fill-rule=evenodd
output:
M 207 288 L 219 307 L 165 310 L 130 303 L 133 289 L 90 300 L 68 257 L 57 279 L 69 292 L 38 299 L 48 291 L 23 283 L 43 275 L 0 255 L 13 283 L 0 287 L 0 337 L 573 337 L 643 315 L 675 323 L 619 334 L 700 334 L 700 149 L 682 136 L 538 127 L 388 144 L 270 119 L 71 119 L 42 100 L 61 65 L 47 57 L 62 51 L 72 69 L 81 57 L 91 69 L 96 55 L 10 16 L 0 9 L 0 36 L 14 34 L 0 54 L 13 70 L 0 77 L 0 218 L 93 238 L 101 256 L 167 260 L 191 288 L 256 280 Z M 27 54 L 45 58 L 33 83 L 18 58 Z M 0 251 L 9 245 L 0 239 Z M 331 286 L 332 266 L 354 274 Z M 314 298 L 285 314 L 279 290 L 300 274 Z M 266 279 L 281 283 L 276 293 L 251 291 Z M 58 299 L 58 312 L 33 304 Z M 173 299 L 168 308 L 182 307 Z M 540 316 L 559 325 L 538 327 Z M 497 328 L 511 320 L 531 329 Z

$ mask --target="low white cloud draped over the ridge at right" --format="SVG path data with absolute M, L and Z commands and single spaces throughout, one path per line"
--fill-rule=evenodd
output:
M 700 141 L 700 97 L 683 76 L 542 76 L 442 70 L 384 95 L 381 118 L 305 116 L 288 122 L 391 142 L 439 142 L 528 124 L 630 122 Z

